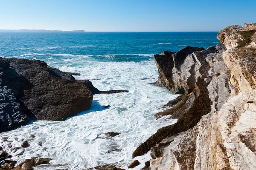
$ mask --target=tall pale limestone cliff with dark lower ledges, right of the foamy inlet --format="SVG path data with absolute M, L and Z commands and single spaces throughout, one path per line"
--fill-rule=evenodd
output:
M 218 39 L 224 45 L 183 53 L 180 62 L 179 52 L 154 56 L 157 84 L 183 95 L 155 115 L 171 115 L 177 123 L 134 151 L 136 157 L 151 150 L 144 170 L 256 169 L 256 23 L 228 26 Z M 168 74 L 160 58 L 169 61 Z

